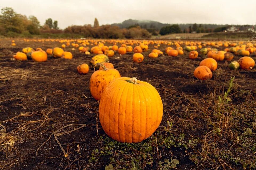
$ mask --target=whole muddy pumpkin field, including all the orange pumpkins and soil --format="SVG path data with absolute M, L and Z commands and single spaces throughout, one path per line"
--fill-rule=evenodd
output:
M 256 169 L 256 41 L 0 40 L 0 169 Z

